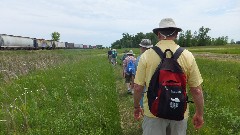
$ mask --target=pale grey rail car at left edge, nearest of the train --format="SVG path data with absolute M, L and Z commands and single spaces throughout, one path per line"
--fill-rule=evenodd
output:
M 1 48 L 34 48 L 33 39 L 29 37 L 0 35 Z

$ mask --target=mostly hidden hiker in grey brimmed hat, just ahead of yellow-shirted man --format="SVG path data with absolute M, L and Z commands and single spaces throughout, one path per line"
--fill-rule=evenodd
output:
M 139 59 L 140 59 L 141 55 L 142 55 L 146 50 L 148 50 L 149 48 L 152 48 L 152 47 L 153 47 L 152 42 L 151 42 L 151 40 L 149 40 L 149 39 L 142 39 L 142 41 L 140 42 L 139 46 L 140 46 L 141 54 L 137 57 L 137 60 L 136 60 L 136 70 L 137 70 L 138 62 L 139 62 Z M 141 100 L 140 100 L 140 106 L 141 106 L 141 108 L 143 108 L 143 97 L 144 97 L 144 93 L 145 93 L 145 92 L 146 92 L 146 86 L 145 86 L 144 89 L 143 89 L 142 98 L 141 98 Z

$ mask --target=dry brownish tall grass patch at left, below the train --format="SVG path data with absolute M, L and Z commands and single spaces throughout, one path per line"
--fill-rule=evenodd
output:
M 1 83 L 17 79 L 35 70 L 45 70 L 67 62 L 68 58 L 59 51 L 0 51 Z

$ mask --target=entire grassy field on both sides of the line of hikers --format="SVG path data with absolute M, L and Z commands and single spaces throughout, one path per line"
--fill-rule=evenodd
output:
M 0 134 L 140 135 L 118 49 L 0 51 Z M 240 46 L 188 48 L 205 98 L 204 126 L 188 135 L 240 135 Z M 135 56 L 139 49 L 133 49 Z

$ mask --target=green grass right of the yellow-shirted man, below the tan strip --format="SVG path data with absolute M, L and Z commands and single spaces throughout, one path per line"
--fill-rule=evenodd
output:
M 197 59 L 197 62 L 204 79 L 205 125 L 199 132 L 195 132 L 189 121 L 189 134 L 239 135 L 239 63 L 207 59 Z

